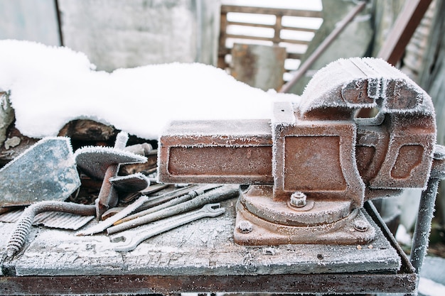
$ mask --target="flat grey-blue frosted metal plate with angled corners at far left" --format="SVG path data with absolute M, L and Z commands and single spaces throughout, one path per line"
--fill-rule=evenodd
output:
M 0 170 L 2 207 L 64 200 L 80 186 L 69 138 L 48 137 Z

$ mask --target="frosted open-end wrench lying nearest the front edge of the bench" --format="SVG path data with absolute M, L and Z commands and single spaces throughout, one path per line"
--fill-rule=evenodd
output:
M 143 226 L 141 229 L 136 231 L 124 231 L 118 236 L 113 236 L 111 238 L 112 242 L 122 242 L 117 243 L 118 246 L 114 247 L 114 251 L 117 252 L 127 252 L 133 251 L 136 246 L 142 241 L 149 239 L 158 234 L 162 234 L 165 231 L 174 229 L 178 226 L 190 223 L 205 217 L 215 217 L 223 214 L 225 208 L 220 207 L 220 204 L 205 204 L 201 209 L 197 209 L 193 212 L 188 212 L 186 214 L 181 214 L 178 216 L 173 216 L 168 219 L 162 219 L 158 222 Z

